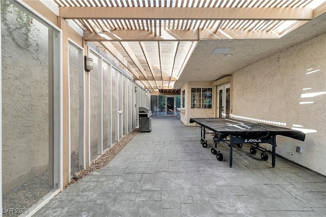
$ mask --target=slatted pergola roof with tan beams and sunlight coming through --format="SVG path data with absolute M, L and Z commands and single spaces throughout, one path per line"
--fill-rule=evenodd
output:
M 151 91 L 174 86 L 199 40 L 280 38 L 325 12 L 325 0 L 53 0 Z M 130 67 L 129 67 L 130 66 Z

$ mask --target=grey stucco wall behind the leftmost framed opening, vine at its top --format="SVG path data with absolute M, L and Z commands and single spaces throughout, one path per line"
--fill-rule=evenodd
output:
M 3 185 L 48 165 L 48 29 L 2 13 Z M 7 22 L 4 22 L 6 16 Z

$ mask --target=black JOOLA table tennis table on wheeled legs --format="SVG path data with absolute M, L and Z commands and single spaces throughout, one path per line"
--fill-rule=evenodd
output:
M 216 159 L 223 160 L 223 154 L 218 149 L 218 143 L 224 143 L 230 147 L 229 165 L 232 167 L 232 151 L 233 144 L 238 148 L 242 147 L 243 143 L 250 143 L 250 153 L 256 154 L 257 149 L 262 151 L 261 159 L 268 160 L 268 155 L 265 149 L 259 146 L 260 143 L 269 143 L 271 149 L 271 165 L 275 167 L 276 156 L 276 136 L 282 135 L 293 139 L 304 141 L 306 134 L 302 131 L 292 130 L 284 127 L 249 122 L 236 118 L 190 118 L 190 123 L 197 123 L 201 128 L 201 144 L 207 148 L 207 140 L 205 134 L 214 133 L 211 153 L 216 155 Z M 210 132 L 206 132 L 206 129 Z M 229 137 L 229 140 L 227 139 Z M 229 143 L 228 143 L 229 142 Z

